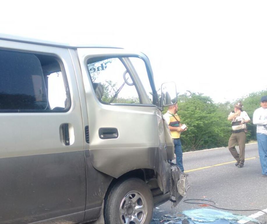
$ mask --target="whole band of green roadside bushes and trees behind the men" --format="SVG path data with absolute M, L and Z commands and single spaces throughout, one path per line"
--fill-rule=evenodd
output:
M 235 102 L 215 104 L 211 97 L 200 93 L 179 95 L 178 115 L 181 123 L 188 126 L 188 130 L 181 134 L 183 151 L 216 148 L 228 145 L 231 135 L 231 122 L 227 117 L 233 111 L 236 101 L 243 102 L 243 110 L 250 116 L 251 122 L 247 124 L 247 143 L 256 142 L 256 126 L 252 123 L 254 110 L 260 107 L 261 96 L 267 95 L 267 90 L 253 92 L 246 97 L 236 99 Z M 165 108 L 163 113 L 166 113 Z

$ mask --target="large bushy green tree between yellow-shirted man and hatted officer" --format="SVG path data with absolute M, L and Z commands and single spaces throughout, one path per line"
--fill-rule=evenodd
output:
M 225 113 L 219 110 L 210 97 L 192 93 L 178 98 L 181 122 L 188 126 L 188 131 L 182 133 L 181 140 L 185 150 L 199 150 L 224 146 L 230 124 Z

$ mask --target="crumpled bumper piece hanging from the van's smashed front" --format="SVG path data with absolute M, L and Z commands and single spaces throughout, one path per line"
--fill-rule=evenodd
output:
M 171 201 L 174 207 L 186 197 L 186 192 L 190 188 L 187 176 L 182 174 L 181 169 L 176 165 L 171 165 Z M 174 199 L 175 198 L 175 199 Z

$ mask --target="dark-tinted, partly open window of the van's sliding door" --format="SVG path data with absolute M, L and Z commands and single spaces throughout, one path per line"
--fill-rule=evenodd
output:
M 0 50 L 0 112 L 63 112 L 67 96 L 55 57 Z

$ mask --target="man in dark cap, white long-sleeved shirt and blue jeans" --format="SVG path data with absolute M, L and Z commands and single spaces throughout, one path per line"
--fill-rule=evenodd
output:
M 267 177 L 267 96 L 261 97 L 261 107 L 253 113 L 253 124 L 257 125 L 257 140 L 262 176 Z

